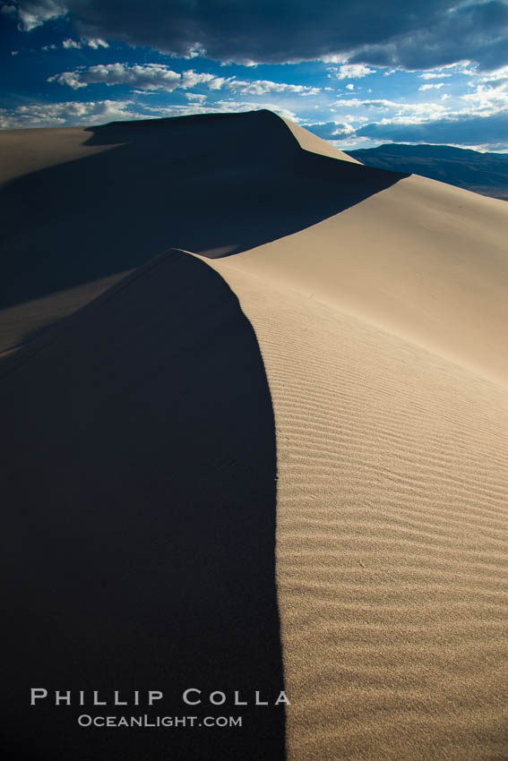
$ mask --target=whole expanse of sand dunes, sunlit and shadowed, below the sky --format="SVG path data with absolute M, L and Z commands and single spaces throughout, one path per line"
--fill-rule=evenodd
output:
M 503 201 L 268 112 L 9 140 L 14 755 L 508 758 Z M 83 735 L 34 680 L 291 705 Z

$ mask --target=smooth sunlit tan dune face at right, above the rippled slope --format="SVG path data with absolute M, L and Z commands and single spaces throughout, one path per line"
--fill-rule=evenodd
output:
M 508 215 L 410 176 L 231 263 L 508 382 Z

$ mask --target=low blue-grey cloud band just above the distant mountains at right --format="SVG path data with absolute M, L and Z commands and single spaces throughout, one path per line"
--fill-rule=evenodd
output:
M 424 124 L 366 124 L 355 136 L 392 142 L 427 142 L 434 145 L 506 146 L 508 111 L 490 116 L 464 115 Z

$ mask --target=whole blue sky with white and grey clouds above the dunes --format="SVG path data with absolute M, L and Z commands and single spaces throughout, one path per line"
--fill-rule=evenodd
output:
M 508 151 L 508 4 L 0 0 L 0 127 L 271 108 L 341 148 Z

